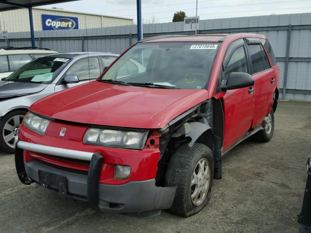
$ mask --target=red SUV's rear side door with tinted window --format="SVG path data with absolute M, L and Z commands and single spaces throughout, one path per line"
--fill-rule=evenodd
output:
M 247 51 L 251 61 L 251 75 L 255 80 L 255 111 L 252 128 L 257 128 L 272 110 L 276 73 L 258 38 L 247 38 Z

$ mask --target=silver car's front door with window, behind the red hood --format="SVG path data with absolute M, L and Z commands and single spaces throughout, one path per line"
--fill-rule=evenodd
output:
M 55 85 L 55 92 L 83 83 L 89 83 L 97 79 L 100 74 L 101 68 L 98 57 L 83 58 L 69 67 L 63 78 Z M 69 75 L 77 76 L 79 78 L 79 83 L 64 83 L 64 78 Z

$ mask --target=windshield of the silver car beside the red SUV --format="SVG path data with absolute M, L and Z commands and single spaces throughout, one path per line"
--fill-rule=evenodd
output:
M 69 64 L 68 58 L 40 57 L 20 67 L 6 81 L 25 83 L 52 83 L 54 78 Z

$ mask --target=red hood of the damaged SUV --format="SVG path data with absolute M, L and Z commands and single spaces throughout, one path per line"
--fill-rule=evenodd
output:
M 207 90 L 159 89 L 95 81 L 39 100 L 30 110 L 72 122 L 158 129 L 206 100 L 207 94 Z

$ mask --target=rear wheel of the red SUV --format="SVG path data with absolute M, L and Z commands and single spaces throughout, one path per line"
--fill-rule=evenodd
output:
M 269 142 L 274 133 L 274 112 L 271 112 L 264 117 L 264 122 L 262 123 L 263 130 L 255 133 L 252 139 L 257 142 Z

